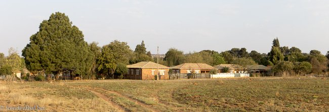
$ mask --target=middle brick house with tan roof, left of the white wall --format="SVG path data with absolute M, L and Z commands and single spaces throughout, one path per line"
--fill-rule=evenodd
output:
M 215 67 L 205 63 L 183 63 L 174 67 L 171 67 L 174 73 L 209 73 L 210 70 Z

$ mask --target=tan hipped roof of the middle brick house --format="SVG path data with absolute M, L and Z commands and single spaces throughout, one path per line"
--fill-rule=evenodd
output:
M 183 63 L 171 68 L 172 69 L 214 69 L 213 66 L 205 63 Z

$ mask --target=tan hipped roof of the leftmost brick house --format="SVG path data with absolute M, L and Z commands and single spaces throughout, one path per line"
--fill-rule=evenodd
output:
M 158 66 L 157 66 L 158 65 Z M 135 63 L 135 64 L 131 64 L 131 65 L 127 65 L 128 68 L 169 68 L 168 66 L 165 65 L 161 65 L 161 64 L 156 64 L 154 62 L 151 61 L 142 61 L 139 63 Z

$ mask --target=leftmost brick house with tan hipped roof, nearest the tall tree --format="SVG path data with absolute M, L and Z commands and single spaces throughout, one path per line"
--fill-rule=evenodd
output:
M 151 61 L 143 61 L 136 64 L 127 65 L 127 68 L 128 73 L 125 74 L 125 79 L 156 80 L 155 76 L 157 71 L 159 73 L 159 80 L 169 79 L 169 67 Z

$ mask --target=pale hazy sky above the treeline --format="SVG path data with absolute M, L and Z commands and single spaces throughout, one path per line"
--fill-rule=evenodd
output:
M 88 43 L 119 40 L 135 50 L 144 40 L 152 54 L 157 46 L 159 54 L 170 48 L 268 53 L 276 37 L 280 46 L 304 53 L 329 51 L 327 0 L 0 0 L 0 52 L 8 55 L 13 47 L 21 54 L 39 24 L 55 12 L 65 13 Z

